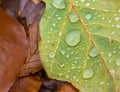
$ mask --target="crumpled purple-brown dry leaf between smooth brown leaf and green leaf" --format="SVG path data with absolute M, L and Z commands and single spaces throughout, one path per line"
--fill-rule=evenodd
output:
M 42 64 L 39 57 L 38 43 L 40 41 L 39 36 L 39 21 L 45 9 L 45 3 L 40 2 L 38 4 L 30 0 L 20 1 L 20 13 L 19 21 L 24 25 L 26 33 L 29 39 L 29 57 L 26 61 L 26 65 L 20 76 L 26 76 L 30 73 L 35 73 L 42 69 Z M 21 19 L 26 19 L 26 22 Z

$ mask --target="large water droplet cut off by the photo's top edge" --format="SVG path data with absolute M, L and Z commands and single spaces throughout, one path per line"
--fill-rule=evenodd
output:
M 57 9 L 64 9 L 66 7 L 65 0 L 53 0 L 52 5 Z

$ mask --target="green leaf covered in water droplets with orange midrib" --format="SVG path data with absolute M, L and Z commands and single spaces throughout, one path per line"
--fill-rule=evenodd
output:
M 120 92 L 120 0 L 44 0 L 41 60 L 81 92 Z

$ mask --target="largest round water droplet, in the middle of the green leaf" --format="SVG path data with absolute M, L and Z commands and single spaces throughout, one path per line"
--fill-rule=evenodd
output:
M 69 46 L 76 46 L 80 40 L 80 31 L 77 30 L 69 31 L 65 37 L 65 42 Z

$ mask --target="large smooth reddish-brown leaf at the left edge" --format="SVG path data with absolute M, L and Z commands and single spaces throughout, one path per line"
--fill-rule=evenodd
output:
M 28 57 L 24 28 L 0 8 L 0 92 L 8 92 Z

